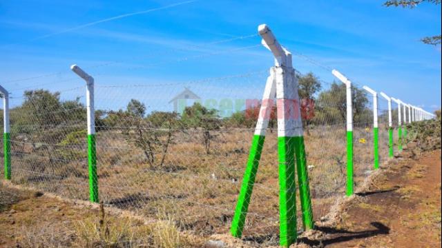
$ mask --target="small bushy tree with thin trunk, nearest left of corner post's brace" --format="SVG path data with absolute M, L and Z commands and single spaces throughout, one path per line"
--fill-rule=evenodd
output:
M 209 110 L 200 103 L 194 103 L 184 109 L 181 121 L 185 127 L 202 130 L 202 144 L 206 154 L 210 154 L 211 140 L 215 138 L 211 135 L 211 131 L 219 130 L 221 125 L 217 111 Z

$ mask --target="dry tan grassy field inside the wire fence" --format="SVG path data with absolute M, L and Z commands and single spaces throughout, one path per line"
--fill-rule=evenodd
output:
M 198 236 L 227 233 L 253 131 L 221 130 L 213 134 L 210 154 L 206 154 L 200 142 L 200 132 L 175 134 L 164 164 L 155 167 L 148 165 L 142 150 L 128 143 L 119 130 L 98 132 L 100 200 L 106 206 L 128 209 L 149 218 L 172 218 L 178 229 Z M 380 135 L 381 162 L 386 162 L 386 130 Z M 372 173 L 372 130 L 356 128 L 354 140 L 358 188 Z M 276 132 L 268 132 L 244 231 L 246 238 L 262 246 L 278 243 L 276 141 Z M 305 135 L 305 143 L 314 217 L 319 220 L 344 195 L 345 126 L 311 128 L 309 135 Z M 88 199 L 83 141 L 61 147 L 61 161 L 49 159 L 48 154 L 54 151 L 13 144 L 13 152 L 19 149 L 22 152 L 12 156 L 13 183 L 64 198 Z

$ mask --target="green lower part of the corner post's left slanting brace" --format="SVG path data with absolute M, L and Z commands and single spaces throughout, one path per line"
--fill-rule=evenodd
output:
M 262 145 L 264 145 L 265 136 L 254 135 L 251 143 L 249 160 L 247 168 L 242 178 L 242 185 L 238 203 L 236 204 L 235 215 L 233 216 L 230 233 L 236 238 L 242 236 L 244 223 L 246 220 L 247 209 L 249 208 L 251 192 L 255 183 L 256 172 L 261 158 Z

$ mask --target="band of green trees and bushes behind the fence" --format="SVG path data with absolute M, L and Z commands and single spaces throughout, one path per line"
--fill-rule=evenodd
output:
M 305 130 L 308 131 L 311 124 L 345 123 L 345 85 L 332 83 L 329 89 L 320 92 L 322 85 L 313 73 L 299 77 L 298 84 Z M 79 154 L 84 154 L 82 150 L 86 146 L 86 107 L 80 103 L 79 98 L 61 101 L 59 92 L 48 90 L 26 91 L 23 96 L 22 105 L 13 107 L 10 113 L 12 138 L 22 141 L 15 146 L 19 143 L 32 144 L 32 152 L 50 154 L 45 156 L 50 157 L 54 166 L 58 163 L 55 161 L 81 157 Z M 365 92 L 354 87 L 354 123 L 372 121 L 372 112 L 367 109 L 367 103 Z M 171 145 L 180 137 L 177 134 L 195 132 L 192 136 L 198 137 L 206 154 L 210 154 L 211 143 L 218 130 L 231 127 L 253 128 L 259 114 L 260 103 L 227 118 L 220 118 L 217 110 L 194 103 L 186 107 L 180 116 L 176 112 L 148 112 L 144 103 L 131 99 L 124 110 L 95 110 L 95 125 L 98 134 L 108 132 L 107 135 L 126 139 L 133 147 L 141 149 L 151 167 L 162 167 Z M 276 103 L 273 103 L 268 118 L 269 128 L 275 127 Z M 81 136 L 84 136 L 84 141 L 81 141 Z M 70 149 L 69 152 L 65 152 L 67 148 Z M 24 145 L 21 150 L 25 150 Z

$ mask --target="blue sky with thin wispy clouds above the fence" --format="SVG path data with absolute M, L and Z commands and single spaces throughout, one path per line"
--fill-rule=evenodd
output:
M 40 87 L 79 95 L 84 84 L 69 70 L 77 63 L 103 86 L 96 94 L 104 108 L 138 98 L 165 110 L 184 86 L 207 99 L 259 98 L 273 59 L 254 34 L 267 23 L 294 54 L 425 110 L 441 107 L 441 47 L 419 41 L 440 34 L 441 6 L 269 2 L 200 0 L 164 8 L 180 0 L 1 1 L 0 85 L 17 98 L 12 104 L 23 90 Z M 152 11 L 81 27 L 144 10 Z M 334 79 L 300 56 L 294 66 Z M 223 78 L 229 75 L 240 76 Z M 131 87 L 140 84 L 151 86 Z

